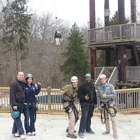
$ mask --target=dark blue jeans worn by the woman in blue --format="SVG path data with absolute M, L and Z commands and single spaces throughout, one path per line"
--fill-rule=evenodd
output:
M 34 108 L 26 107 L 24 112 L 25 116 L 24 125 L 26 133 L 35 132 L 34 113 L 35 113 Z

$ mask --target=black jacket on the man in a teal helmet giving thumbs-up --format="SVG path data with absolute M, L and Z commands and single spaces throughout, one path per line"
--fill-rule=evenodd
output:
M 88 94 L 89 100 L 85 100 L 85 96 Z M 78 97 L 80 102 L 97 104 L 97 97 L 94 85 L 86 82 L 82 83 L 78 88 Z

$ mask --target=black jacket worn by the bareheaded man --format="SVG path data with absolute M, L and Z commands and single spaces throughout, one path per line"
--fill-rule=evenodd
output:
M 10 85 L 10 104 L 11 106 L 22 103 L 25 100 L 25 83 L 17 79 Z

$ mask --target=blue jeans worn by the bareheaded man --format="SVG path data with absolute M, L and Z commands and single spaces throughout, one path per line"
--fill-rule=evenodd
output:
M 23 110 L 23 104 L 20 104 L 20 111 Z M 17 119 L 14 119 L 12 134 L 19 133 L 19 135 L 24 134 L 22 122 L 21 122 L 21 115 Z

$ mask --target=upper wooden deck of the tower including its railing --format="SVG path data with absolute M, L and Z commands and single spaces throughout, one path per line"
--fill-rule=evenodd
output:
M 88 45 L 100 49 L 118 45 L 132 46 L 140 44 L 140 24 L 121 24 L 88 30 Z

